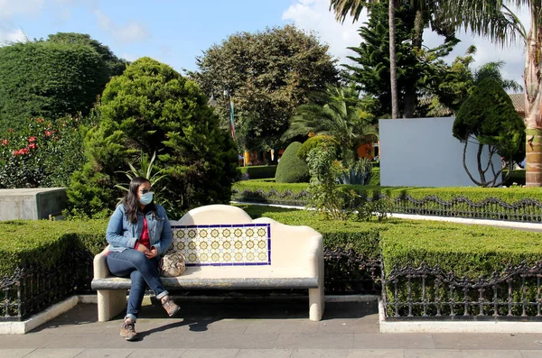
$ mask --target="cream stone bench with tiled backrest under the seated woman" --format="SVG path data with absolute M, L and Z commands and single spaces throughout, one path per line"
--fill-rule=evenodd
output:
M 322 234 L 266 217 L 252 220 L 242 209 L 225 205 L 195 208 L 171 225 L 169 252 L 182 252 L 186 271 L 163 277 L 166 289 L 308 289 L 309 318 L 322 319 Z M 98 321 L 126 309 L 131 283 L 111 275 L 106 253 L 94 258 Z

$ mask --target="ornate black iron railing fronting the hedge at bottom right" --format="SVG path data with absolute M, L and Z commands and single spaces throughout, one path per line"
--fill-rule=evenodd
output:
M 386 319 L 542 321 L 542 262 L 476 280 L 438 266 L 393 268 L 382 278 Z

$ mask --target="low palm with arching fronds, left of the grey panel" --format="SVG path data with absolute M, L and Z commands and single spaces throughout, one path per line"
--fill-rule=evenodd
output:
M 297 107 L 283 139 L 309 133 L 332 135 L 343 156 L 353 159 L 359 144 L 371 142 L 377 136 L 358 95 L 352 87 L 328 86 L 325 93 L 315 96 L 315 103 Z

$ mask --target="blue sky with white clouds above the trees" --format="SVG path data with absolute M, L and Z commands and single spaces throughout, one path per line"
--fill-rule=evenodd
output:
M 528 28 L 527 12 L 519 10 L 519 17 Z M 313 32 L 345 63 L 352 54 L 347 47 L 360 44 L 358 29 L 366 21 L 363 14 L 358 23 L 337 23 L 329 0 L 0 0 L 0 43 L 45 39 L 57 32 L 88 33 L 117 57 L 133 61 L 149 56 L 183 73 L 197 69 L 195 58 L 233 33 L 286 23 Z M 458 37 L 462 42 L 445 60 L 452 62 L 473 44 L 478 48 L 474 68 L 503 60 L 503 77 L 523 86 L 522 43 L 501 49 L 468 32 L 458 32 Z M 424 38 L 429 48 L 442 42 L 430 31 Z

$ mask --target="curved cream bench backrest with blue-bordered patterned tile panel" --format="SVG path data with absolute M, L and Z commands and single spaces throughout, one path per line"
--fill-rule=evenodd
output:
M 170 251 L 182 252 L 187 266 L 304 266 L 306 252 L 322 236 L 308 226 L 252 220 L 225 205 L 198 207 L 172 222 Z

